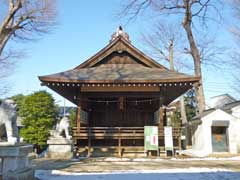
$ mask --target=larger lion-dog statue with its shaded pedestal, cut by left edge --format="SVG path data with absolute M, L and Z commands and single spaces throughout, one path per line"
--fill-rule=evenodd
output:
M 3 180 L 31 180 L 34 172 L 28 153 L 32 152 L 33 146 L 19 143 L 16 120 L 17 105 L 13 100 L 4 100 L 0 106 L 0 177 Z

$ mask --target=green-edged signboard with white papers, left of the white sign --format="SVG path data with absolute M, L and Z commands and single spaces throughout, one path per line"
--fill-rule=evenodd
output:
M 158 151 L 158 127 L 144 126 L 144 150 Z

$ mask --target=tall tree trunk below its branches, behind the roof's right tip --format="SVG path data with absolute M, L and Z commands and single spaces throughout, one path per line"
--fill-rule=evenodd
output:
M 199 113 L 201 113 L 205 109 L 205 98 L 204 98 L 203 84 L 202 84 L 201 60 L 200 60 L 199 50 L 196 46 L 196 43 L 192 34 L 190 23 L 191 21 L 185 19 L 183 23 L 183 27 L 187 33 L 187 37 L 188 37 L 188 41 L 191 49 L 191 55 L 194 60 L 195 76 L 200 77 L 199 86 L 196 88 L 196 95 L 197 95 Z

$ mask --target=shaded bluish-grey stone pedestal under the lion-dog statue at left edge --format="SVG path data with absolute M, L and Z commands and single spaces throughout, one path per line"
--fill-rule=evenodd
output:
M 0 177 L 3 180 L 34 179 L 30 168 L 28 153 L 33 151 L 32 145 L 0 143 Z

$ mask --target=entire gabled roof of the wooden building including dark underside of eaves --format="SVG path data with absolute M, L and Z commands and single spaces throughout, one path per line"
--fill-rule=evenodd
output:
M 91 86 L 97 91 L 107 84 L 101 91 L 114 89 L 114 92 L 121 92 L 127 84 L 127 90 L 135 93 L 135 83 L 138 83 L 139 91 L 144 86 L 150 88 L 144 93 L 157 89 L 157 96 L 164 96 L 162 103 L 166 105 L 192 88 L 200 77 L 168 70 L 134 47 L 127 33 L 119 29 L 106 47 L 79 66 L 68 71 L 39 76 L 39 79 L 43 85 L 75 104 L 78 103 L 76 97 L 80 92 L 83 93 L 82 87 Z

